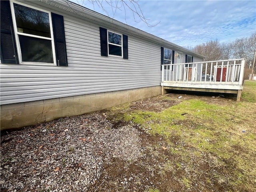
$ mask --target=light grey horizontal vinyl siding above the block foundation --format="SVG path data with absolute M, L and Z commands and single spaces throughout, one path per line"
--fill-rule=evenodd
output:
M 68 66 L 0 64 L 1 104 L 160 86 L 160 46 L 127 34 L 128 60 L 103 57 L 99 25 L 64 16 L 64 26 Z

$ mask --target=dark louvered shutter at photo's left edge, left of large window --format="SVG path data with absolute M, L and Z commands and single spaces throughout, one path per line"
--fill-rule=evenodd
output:
M 0 1 L 0 44 L 1 62 L 19 64 L 15 34 L 12 24 L 10 1 Z

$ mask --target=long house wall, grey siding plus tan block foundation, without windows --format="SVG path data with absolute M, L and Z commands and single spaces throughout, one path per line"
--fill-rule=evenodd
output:
M 23 3 L 36 6 L 38 2 Z M 112 24 L 45 6 L 39 7 L 64 16 L 68 66 L 1 63 L 1 130 L 161 94 L 161 46 L 164 45 Z M 128 36 L 128 60 L 101 56 L 99 27 Z

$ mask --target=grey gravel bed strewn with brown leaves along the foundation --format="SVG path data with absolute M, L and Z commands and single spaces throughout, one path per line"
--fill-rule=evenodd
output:
M 29 126 L 1 137 L 3 191 L 88 191 L 112 158 L 142 156 L 134 124 L 113 126 L 95 112 Z M 1 191 L 2 191 L 1 190 Z

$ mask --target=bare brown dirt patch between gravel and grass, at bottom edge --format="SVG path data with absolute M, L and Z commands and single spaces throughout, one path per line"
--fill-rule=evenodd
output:
M 136 191 L 143 192 L 157 188 L 160 191 L 180 191 L 182 186 L 173 180 L 172 172 L 164 172 L 164 164 L 172 158 L 166 140 L 160 136 L 140 134 L 142 139 L 142 157 L 136 161 L 125 162 L 118 158 L 104 165 L 104 171 L 90 190 L 97 191 Z M 159 147 L 160 146 L 160 147 Z M 164 172 L 164 174 L 163 174 Z M 179 172 L 182 177 L 184 172 Z

